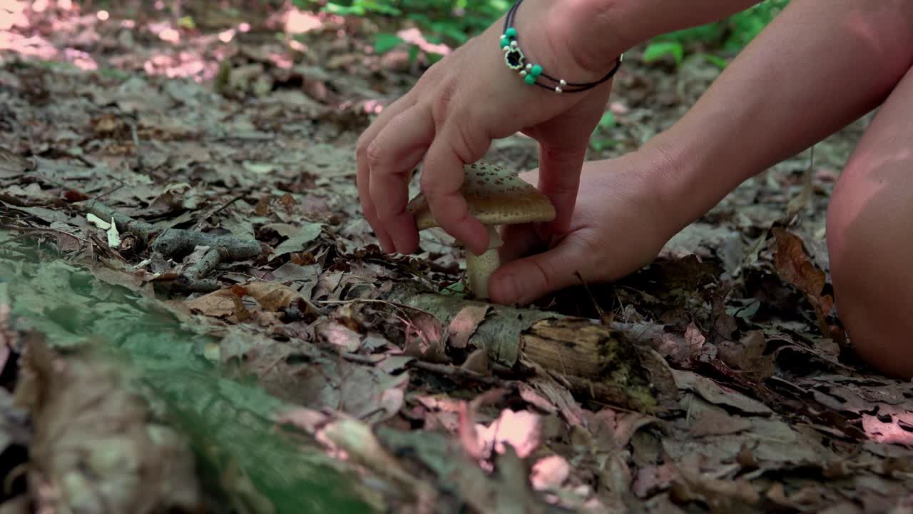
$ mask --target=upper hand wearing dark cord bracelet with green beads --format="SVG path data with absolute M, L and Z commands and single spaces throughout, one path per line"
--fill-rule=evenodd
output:
M 524 2 L 515 18 L 520 48 L 553 76 L 598 80 L 617 55 L 606 56 L 606 68 L 598 71 L 577 64 L 572 37 L 554 28 L 567 4 Z M 436 220 L 468 251 L 485 252 L 488 233 L 459 194 L 463 166 L 485 155 L 492 140 L 517 132 L 540 144 L 540 190 L 557 211 L 546 230 L 567 230 L 589 136 L 603 114 L 612 82 L 567 94 L 528 86 L 504 64 L 502 30 L 499 20 L 441 59 L 359 139 L 359 196 L 384 252 L 412 253 L 418 248 L 415 220 L 406 204 L 412 171 L 423 159 L 421 187 Z

